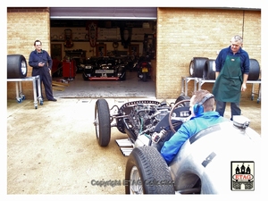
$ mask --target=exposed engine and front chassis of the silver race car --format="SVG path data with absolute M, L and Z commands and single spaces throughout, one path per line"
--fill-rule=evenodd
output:
M 129 137 L 115 140 L 122 154 L 130 155 L 133 147 L 159 147 L 157 145 L 161 146 L 172 132 L 171 123 L 172 128 L 178 130 L 183 122 L 188 121 L 188 105 L 177 105 L 176 108 L 173 105 L 152 100 L 132 101 L 121 107 L 113 105 L 110 109 L 111 126 Z

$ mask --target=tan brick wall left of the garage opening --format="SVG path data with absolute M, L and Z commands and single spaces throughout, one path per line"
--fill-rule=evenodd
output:
M 28 64 L 34 41 L 42 41 L 42 47 L 50 54 L 50 20 L 48 8 L 7 8 L 7 54 L 22 54 Z M 31 76 L 28 65 L 27 76 Z M 22 92 L 33 98 L 32 82 L 23 81 Z M 44 91 L 44 88 L 43 88 Z M 45 93 L 43 93 L 45 96 Z M 7 82 L 7 98 L 16 97 L 15 83 Z

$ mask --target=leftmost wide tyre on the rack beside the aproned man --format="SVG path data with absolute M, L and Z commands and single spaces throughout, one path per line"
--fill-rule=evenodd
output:
M 206 57 L 193 57 L 189 64 L 189 74 L 192 78 L 203 78 Z

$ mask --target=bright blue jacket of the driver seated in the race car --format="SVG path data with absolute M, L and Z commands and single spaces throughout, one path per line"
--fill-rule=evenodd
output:
M 175 155 L 180 151 L 180 147 L 184 144 L 188 138 L 206 128 L 213 126 L 214 124 L 222 121 L 228 121 L 220 116 L 219 113 L 211 111 L 200 113 L 195 117 L 192 117 L 189 121 L 184 122 L 180 129 L 174 133 L 172 138 L 163 144 L 161 149 L 161 155 L 167 164 L 171 163 Z

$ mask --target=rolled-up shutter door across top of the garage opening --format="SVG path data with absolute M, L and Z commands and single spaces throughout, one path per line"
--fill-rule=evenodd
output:
M 50 18 L 96 20 L 156 20 L 156 7 L 51 7 Z

